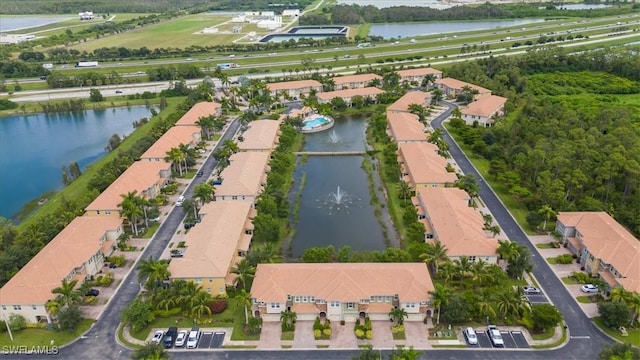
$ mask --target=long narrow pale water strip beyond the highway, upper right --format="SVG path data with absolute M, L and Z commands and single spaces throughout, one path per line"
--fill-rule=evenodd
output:
M 452 32 L 499 29 L 509 26 L 522 26 L 541 22 L 544 22 L 544 19 L 373 24 L 369 30 L 369 35 L 382 36 L 385 39 L 404 38 Z

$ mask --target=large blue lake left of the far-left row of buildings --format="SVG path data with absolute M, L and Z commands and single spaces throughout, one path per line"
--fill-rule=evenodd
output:
M 29 201 L 60 190 L 62 166 L 84 170 L 106 154 L 109 138 L 133 131 L 151 113 L 144 106 L 0 118 L 0 216 L 15 216 Z

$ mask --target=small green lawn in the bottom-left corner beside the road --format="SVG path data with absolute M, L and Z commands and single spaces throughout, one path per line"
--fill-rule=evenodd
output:
M 74 332 L 56 331 L 46 329 L 24 329 L 13 331 L 13 341 L 9 337 L 8 332 L 0 333 L 0 344 L 10 346 L 50 346 L 51 341 L 54 345 L 61 346 L 70 343 L 78 338 L 93 324 L 93 320 L 84 319 Z M 3 325 L 4 326 L 4 325 Z

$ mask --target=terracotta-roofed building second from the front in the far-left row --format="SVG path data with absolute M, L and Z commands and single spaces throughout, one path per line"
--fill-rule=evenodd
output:
M 136 161 L 85 208 L 87 216 L 120 217 L 122 195 L 135 191 L 154 199 L 171 177 L 171 164 L 165 161 Z

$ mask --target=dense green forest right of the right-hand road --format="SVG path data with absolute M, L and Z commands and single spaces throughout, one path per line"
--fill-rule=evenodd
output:
M 606 211 L 640 234 L 640 121 L 619 94 L 640 93 L 640 62 L 629 49 L 562 49 L 453 65 L 447 76 L 513 101 L 491 128 L 451 122 L 489 174 L 538 227 L 558 211 Z M 604 93 L 606 92 L 606 94 Z

